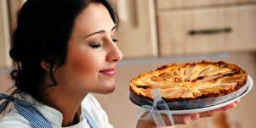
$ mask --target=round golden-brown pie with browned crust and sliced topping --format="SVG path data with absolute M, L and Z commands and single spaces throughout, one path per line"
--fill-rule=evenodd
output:
M 160 88 L 166 102 L 221 97 L 247 82 L 247 72 L 224 61 L 168 64 L 142 73 L 130 81 L 130 92 L 153 100 L 151 91 Z

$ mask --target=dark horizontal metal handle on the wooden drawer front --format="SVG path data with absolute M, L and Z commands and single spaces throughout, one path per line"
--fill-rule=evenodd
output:
M 208 29 L 208 30 L 191 30 L 189 31 L 190 36 L 196 35 L 213 35 L 219 33 L 230 33 L 232 29 L 230 27 L 222 28 L 222 29 Z

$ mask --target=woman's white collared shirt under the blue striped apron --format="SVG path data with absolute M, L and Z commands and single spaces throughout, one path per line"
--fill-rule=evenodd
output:
M 23 96 L 23 95 L 22 95 Z M 43 114 L 43 117 L 48 120 L 48 122 L 54 128 L 61 128 L 63 116 L 60 111 L 53 109 L 45 104 L 38 103 L 30 95 L 25 95 L 26 102 L 34 103 L 33 106 Z M 82 114 L 87 114 L 91 117 L 91 120 L 94 120 L 95 124 L 99 128 L 113 128 L 109 123 L 108 117 L 105 114 L 105 111 L 101 108 L 100 103 L 96 98 L 88 94 L 82 101 Z M 31 128 L 31 124 L 26 120 L 19 112 L 14 109 L 11 109 L 9 114 L 3 116 L 3 119 L 0 120 L 0 128 Z M 65 128 L 90 128 L 88 125 L 87 119 L 81 116 L 81 120 L 76 125 L 71 125 Z

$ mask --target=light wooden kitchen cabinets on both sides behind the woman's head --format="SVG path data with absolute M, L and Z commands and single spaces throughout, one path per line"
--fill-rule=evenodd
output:
M 1 1 L 1 66 L 24 0 Z M 256 0 L 113 0 L 124 58 L 255 51 Z M 9 3 L 9 15 L 6 4 Z M 9 17 L 9 18 L 8 18 Z M 10 21 L 9 21 L 10 20 Z M 8 27 L 10 26 L 10 27 Z M 8 29 L 9 28 L 9 29 Z M 11 32 L 10 32 L 11 31 Z

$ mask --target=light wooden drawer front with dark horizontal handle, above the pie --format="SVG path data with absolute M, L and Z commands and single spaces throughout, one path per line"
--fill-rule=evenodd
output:
M 256 50 L 256 4 L 157 16 L 162 56 Z

